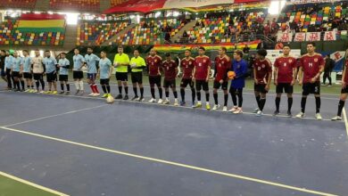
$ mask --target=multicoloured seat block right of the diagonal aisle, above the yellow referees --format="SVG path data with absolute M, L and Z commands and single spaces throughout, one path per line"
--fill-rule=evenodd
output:
M 144 28 L 144 24 L 148 25 Z M 150 28 L 150 24 L 154 23 L 154 27 Z M 170 36 L 173 37 L 178 30 L 185 26 L 178 19 L 165 20 L 143 20 L 135 28 L 128 30 L 127 33 L 121 35 L 115 44 L 118 45 L 157 45 L 164 43 L 164 33 L 162 29 L 170 26 Z

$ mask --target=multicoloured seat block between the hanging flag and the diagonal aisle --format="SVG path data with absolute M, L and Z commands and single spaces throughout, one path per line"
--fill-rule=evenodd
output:
M 81 21 L 78 26 L 77 45 L 102 45 L 128 26 L 128 22 Z

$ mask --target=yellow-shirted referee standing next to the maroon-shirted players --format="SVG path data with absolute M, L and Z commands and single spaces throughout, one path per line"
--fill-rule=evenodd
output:
M 146 68 L 145 60 L 139 56 L 139 51 L 134 51 L 134 57 L 130 60 L 131 78 L 135 96 L 132 101 L 144 102 L 143 69 Z M 140 88 L 140 98 L 137 96 L 137 86 Z

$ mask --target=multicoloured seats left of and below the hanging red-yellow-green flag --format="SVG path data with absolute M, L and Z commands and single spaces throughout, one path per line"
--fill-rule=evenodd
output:
M 24 33 L 16 27 L 17 20 L 4 20 L 0 27 L 0 45 L 63 45 L 65 31 Z

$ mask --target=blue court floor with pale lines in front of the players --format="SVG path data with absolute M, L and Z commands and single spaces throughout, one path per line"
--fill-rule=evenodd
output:
M 48 188 L 32 195 L 347 194 L 346 120 L 328 120 L 335 96 L 323 95 L 319 121 L 271 117 L 272 110 L 258 118 L 247 112 L 253 104 L 234 115 L 87 96 L 0 94 L 7 111 L 0 114 L 0 167 Z M 252 103 L 252 92 L 245 94 Z M 269 95 L 266 108 L 273 100 Z M 308 102 L 310 117 L 313 99 Z

